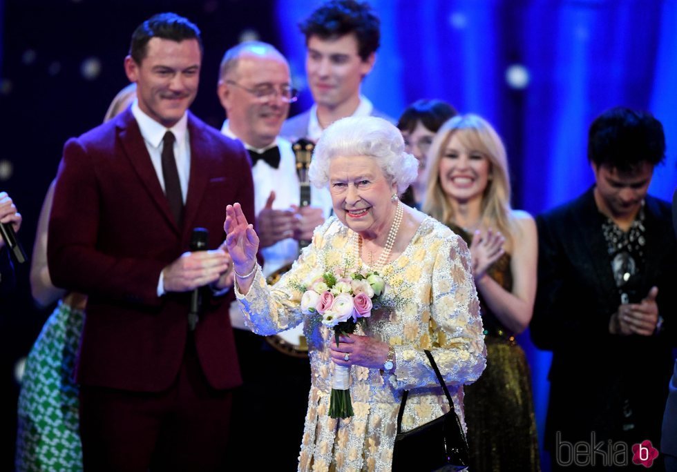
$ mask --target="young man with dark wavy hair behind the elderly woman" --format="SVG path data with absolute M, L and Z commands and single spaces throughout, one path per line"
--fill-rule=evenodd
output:
M 350 116 L 375 116 L 394 123 L 360 93 L 381 40 L 380 21 L 369 4 L 328 1 L 299 28 L 305 35 L 305 70 L 315 103 L 288 119 L 280 134 L 292 141 L 301 137 L 317 141 L 327 126 Z

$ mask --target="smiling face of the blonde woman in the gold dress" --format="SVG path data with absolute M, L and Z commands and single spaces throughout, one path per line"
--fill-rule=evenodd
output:
M 439 183 L 448 198 L 466 204 L 482 199 L 490 170 L 486 154 L 466 146 L 454 132 L 439 159 Z

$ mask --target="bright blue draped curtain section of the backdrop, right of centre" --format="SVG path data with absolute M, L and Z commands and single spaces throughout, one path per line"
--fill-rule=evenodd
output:
M 277 2 L 280 40 L 296 77 L 304 77 L 305 49 L 298 28 L 289 25 L 321 3 Z M 587 130 L 600 112 L 618 105 L 651 110 L 662 121 L 667 159 L 656 168 L 650 192 L 671 199 L 677 184 L 675 1 L 370 3 L 383 40 L 365 95 L 392 117 L 412 101 L 439 98 L 489 119 L 506 142 L 516 208 L 536 215 L 593 184 Z M 542 444 L 551 355 L 537 350 L 528 333 L 520 342 L 531 363 Z

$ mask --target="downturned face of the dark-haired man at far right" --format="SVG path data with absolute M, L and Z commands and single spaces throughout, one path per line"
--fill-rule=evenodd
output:
M 633 218 L 647 196 L 654 166 L 647 161 L 621 172 L 608 164 L 595 166 L 595 201 L 602 213 L 612 219 Z

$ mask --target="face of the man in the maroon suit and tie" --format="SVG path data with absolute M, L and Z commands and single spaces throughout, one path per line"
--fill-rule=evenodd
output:
M 142 112 L 166 128 L 174 126 L 198 93 L 201 61 L 197 39 L 151 38 L 141 63 L 127 56 L 124 69 L 136 82 Z

